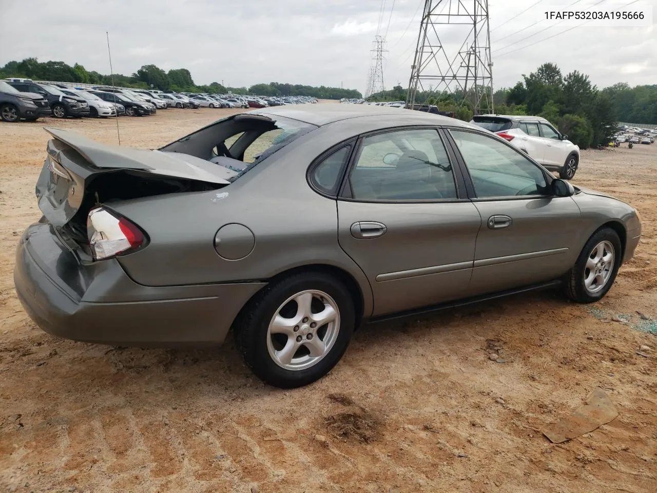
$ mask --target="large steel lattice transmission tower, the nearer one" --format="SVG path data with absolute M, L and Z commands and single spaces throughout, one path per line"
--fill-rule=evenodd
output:
M 443 45 L 443 39 L 455 42 Z M 459 47 L 459 42 L 461 43 Z M 417 94 L 463 93 L 474 114 L 493 112 L 488 0 L 426 0 L 411 66 L 406 99 L 409 107 Z

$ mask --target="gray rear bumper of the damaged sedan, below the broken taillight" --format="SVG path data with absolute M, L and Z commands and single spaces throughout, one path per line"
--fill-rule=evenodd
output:
M 57 337 L 131 346 L 220 344 L 264 283 L 148 287 L 116 259 L 85 262 L 49 224 L 16 250 L 16 293 L 30 318 Z

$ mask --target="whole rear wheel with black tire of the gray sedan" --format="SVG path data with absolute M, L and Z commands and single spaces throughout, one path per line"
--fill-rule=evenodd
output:
M 330 371 L 355 325 L 349 290 L 321 272 L 291 275 L 267 286 L 235 321 L 237 348 L 261 380 L 302 387 Z

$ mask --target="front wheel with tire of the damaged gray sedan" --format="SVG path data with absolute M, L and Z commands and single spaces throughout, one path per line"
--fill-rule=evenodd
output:
M 566 277 L 566 296 L 578 303 L 593 303 L 607 294 L 616 279 L 622 251 L 616 231 L 610 227 L 597 231 Z

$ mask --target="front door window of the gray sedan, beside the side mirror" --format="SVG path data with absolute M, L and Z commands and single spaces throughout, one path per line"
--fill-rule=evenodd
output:
M 541 168 L 509 145 L 480 133 L 451 130 L 477 197 L 547 193 Z

